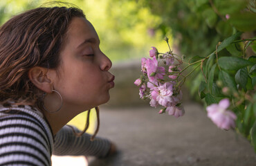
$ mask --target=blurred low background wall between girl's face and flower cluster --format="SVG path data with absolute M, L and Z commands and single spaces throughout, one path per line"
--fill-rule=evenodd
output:
M 149 100 L 141 100 L 134 81 L 140 77 L 140 59 L 127 60 L 113 64 L 110 72 L 116 76 L 115 87 L 110 90 L 111 98 L 104 107 L 148 106 Z M 183 102 L 190 100 L 189 93 L 183 89 Z

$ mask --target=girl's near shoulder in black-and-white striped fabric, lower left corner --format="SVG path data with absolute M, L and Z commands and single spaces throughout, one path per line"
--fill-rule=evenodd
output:
M 28 108 L 0 108 L 0 165 L 51 165 L 53 138 L 42 116 Z

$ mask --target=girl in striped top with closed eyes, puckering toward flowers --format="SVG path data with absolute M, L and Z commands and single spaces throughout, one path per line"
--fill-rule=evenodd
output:
M 65 125 L 94 107 L 99 118 L 109 100 L 114 76 L 99 44 L 79 8 L 35 8 L 1 26 L 0 165 L 51 165 L 52 152 L 113 154 L 109 140 Z

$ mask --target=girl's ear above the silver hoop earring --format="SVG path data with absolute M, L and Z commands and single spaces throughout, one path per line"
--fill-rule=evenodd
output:
M 46 93 L 52 93 L 53 81 L 48 77 L 48 68 L 35 66 L 28 71 L 28 78 L 38 89 Z

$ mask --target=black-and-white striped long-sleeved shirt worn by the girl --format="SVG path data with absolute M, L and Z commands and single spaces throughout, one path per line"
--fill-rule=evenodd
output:
M 75 128 L 77 132 L 78 129 Z M 84 133 L 76 137 L 64 126 L 55 136 L 43 114 L 29 106 L 0 105 L 0 166 L 51 165 L 51 155 L 107 156 L 111 143 Z

